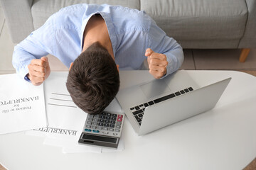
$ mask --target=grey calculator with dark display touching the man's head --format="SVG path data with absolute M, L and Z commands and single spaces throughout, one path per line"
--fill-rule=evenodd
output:
M 87 115 L 79 144 L 117 148 L 124 124 L 124 114 L 102 112 Z

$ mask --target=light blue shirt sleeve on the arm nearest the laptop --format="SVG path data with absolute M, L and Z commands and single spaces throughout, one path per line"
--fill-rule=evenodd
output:
M 149 30 L 149 47 L 154 52 L 166 55 L 168 66 L 164 77 L 176 72 L 178 68 L 181 67 L 184 60 L 181 45 L 179 45 L 174 38 L 169 38 L 166 33 L 164 33 L 164 30 L 156 26 L 154 21 L 152 21 Z

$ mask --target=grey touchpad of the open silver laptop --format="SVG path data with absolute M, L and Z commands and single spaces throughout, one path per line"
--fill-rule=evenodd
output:
M 170 91 L 164 79 L 157 79 L 157 80 L 151 81 L 150 83 L 142 84 L 140 88 L 142 89 L 143 93 L 147 98 L 159 96 L 161 94 L 166 93 L 167 91 Z

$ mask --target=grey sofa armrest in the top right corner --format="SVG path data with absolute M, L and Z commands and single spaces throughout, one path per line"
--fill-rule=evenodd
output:
M 238 48 L 256 47 L 256 1 L 245 0 L 247 4 L 248 16 L 245 27 L 245 33 L 242 36 Z

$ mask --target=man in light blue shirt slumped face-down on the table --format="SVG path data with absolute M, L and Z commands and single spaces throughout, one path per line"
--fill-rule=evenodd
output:
M 107 4 L 78 4 L 53 14 L 16 45 L 13 64 L 40 85 L 50 74 L 48 54 L 70 67 L 70 96 L 91 114 L 102 112 L 117 94 L 118 68 L 140 69 L 147 57 L 150 74 L 160 79 L 183 62 L 181 46 L 146 13 Z

